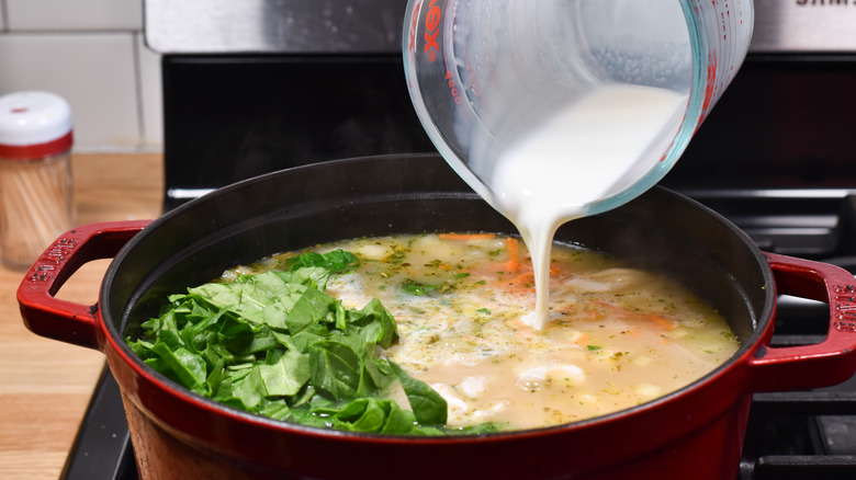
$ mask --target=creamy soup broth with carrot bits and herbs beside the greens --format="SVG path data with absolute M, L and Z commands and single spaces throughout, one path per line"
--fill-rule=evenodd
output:
M 491 233 L 362 238 L 318 245 L 360 265 L 327 284 L 346 308 L 378 298 L 399 340 L 382 355 L 435 388 L 450 426 L 532 428 L 630 408 L 677 390 L 739 347 L 727 321 L 668 278 L 554 243 L 549 323 L 523 321 L 536 302 L 522 241 Z M 275 268 L 301 252 L 234 268 Z M 399 404 L 406 396 L 388 392 Z

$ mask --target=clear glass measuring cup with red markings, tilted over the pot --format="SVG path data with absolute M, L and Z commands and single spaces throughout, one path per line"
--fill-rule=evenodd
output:
M 564 105 L 605 85 L 682 95 L 639 161 L 581 207 L 592 215 L 668 172 L 740 68 L 752 26 L 751 0 L 409 0 L 405 71 L 433 144 L 495 207 L 497 157 Z

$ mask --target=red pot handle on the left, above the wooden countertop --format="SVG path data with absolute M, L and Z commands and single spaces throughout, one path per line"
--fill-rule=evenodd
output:
M 151 220 L 92 224 L 56 239 L 30 267 L 18 287 L 24 324 L 49 339 L 99 348 L 98 305 L 86 306 L 54 297 L 83 264 L 111 259 Z

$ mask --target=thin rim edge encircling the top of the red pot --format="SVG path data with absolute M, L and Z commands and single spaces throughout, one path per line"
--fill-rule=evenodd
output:
M 357 158 L 349 158 L 349 159 L 341 159 L 341 160 L 331 160 L 324 163 L 313 163 L 313 164 L 306 164 L 306 165 L 300 165 L 292 169 L 281 170 L 277 172 L 267 173 L 263 175 L 255 176 L 251 179 L 247 179 L 240 182 L 233 183 L 230 185 L 223 186 L 221 188 L 214 190 L 211 193 L 207 193 L 199 198 L 192 199 L 185 204 L 182 204 L 174 209 L 166 213 L 161 217 L 155 219 L 149 224 L 147 227 L 145 227 L 139 233 L 137 233 L 134 238 L 132 238 L 123 248 L 122 250 L 115 255 L 114 260 L 111 262 L 110 266 L 106 270 L 106 273 L 104 275 L 104 279 L 101 285 L 101 290 L 99 294 L 99 304 L 101 306 L 108 305 L 111 300 L 108 295 L 109 286 L 113 283 L 116 271 L 119 266 L 122 264 L 123 260 L 127 256 L 128 252 L 134 249 L 134 247 L 143 241 L 146 240 L 146 238 L 151 233 L 151 231 L 159 228 L 162 224 L 168 222 L 173 217 L 182 215 L 184 212 L 193 209 L 196 207 L 196 205 L 200 205 L 204 202 L 210 202 L 214 198 L 229 195 L 230 192 L 234 192 L 236 190 L 245 188 L 247 186 L 250 186 L 258 182 L 264 182 L 270 181 L 272 178 L 281 176 L 281 175 L 288 175 L 288 172 L 291 171 L 312 171 L 315 169 L 330 169 L 336 168 L 337 164 L 341 163 L 350 163 L 350 162 L 360 162 L 360 161 L 376 161 L 379 159 L 384 158 L 402 158 L 402 157 L 435 157 L 439 158 L 437 155 L 431 153 L 425 153 L 425 155 L 385 155 L 385 156 L 371 156 L 371 157 L 357 157 Z M 734 226 L 730 220 L 714 212 L 713 209 L 707 207 L 706 205 L 689 198 L 683 194 L 679 194 L 677 192 L 671 191 L 668 188 L 662 187 L 662 186 L 654 186 L 651 188 L 649 193 L 645 193 L 644 195 L 666 195 L 671 196 L 669 202 L 682 202 L 687 204 L 688 206 L 696 208 L 700 210 L 700 213 L 710 216 L 712 219 L 717 220 L 719 224 L 723 225 L 728 230 L 734 235 L 737 239 L 740 239 L 740 242 L 747 249 L 747 251 L 751 253 L 752 258 L 756 261 L 758 266 L 762 268 L 762 274 L 764 277 L 764 285 L 759 286 L 761 288 L 764 288 L 765 292 L 765 301 L 763 310 L 761 311 L 761 315 L 752 318 L 752 324 L 753 330 L 752 334 L 748 335 L 745 341 L 742 342 L 740 348 L 725 362 L 720 364 L 717 368 L 711 370 L 710 373 L 706 374 L 705 376 L 694 380 L 692 382 L 675 390 L 669 393 L 666 393 L 664 396 L 661 396 L 656 399 L 650 400 L 647 402 L 641 403 L 635 407 L 631 407 L 628 409 L 619 410 L 616 412 L 607 413 L 604 415 L 598 415 L 589 419 L 579 420 L 572 423 L 565 423 L 561 425 L 552 425 L 552 426 L 544 426 L 544 427 L 538 427 L 538 428 L 527 428 L 527 430 L 518 430 L 518 431 L 508 431 L 508 432 L 495 432 L 495 433 L 488 433 L 488 434 L 460 434 L 460 435 L 448 435 L 448 436 L 409 436 L 409 435 L 381 435 L 381 434 L 370 434 L 370 433 L 358 433 L 358 432 L 343 432 L 343 431 L 336 431 L 331 428 L 320 428 L 320 427 L 314 427 L 314 426 L 307 426 L 302 425 L 297 423 L 291 423 L 286 421 L 279 421 L 269 419 L 261 415 L 256 415 L 249 412 L 245 412 L 243 410 L 225 405 L 223 403 L 216 402 L 212 399 L 205 398 L 203 396 L 200 396 L 198 393 L 192 392 L 191 390 L 180 386 L 179 384 L 170 380 L 166 376 L 157 373 L 156 370 L 151 369 L 147 365 L 143 363 L 143 361 L 134 354 L 131 348 L 127 346 L 127 344 L 124 341 L 124 333 L 119 332 L 115 329 L 114 322 L 108 322 L 103 318 L 105 315 L 106 308 L 99 308 L 99 311 L 97 313 L 98 316 L 98 322 L 99 322 L 99 329 L 102 330 L 104 334 L 104 342 L 102 344 L 101 350 L 106 352 L 106 348 L 104 348 L 104 345 L 110 345 L 110 350 L 121 359 L 123 364 L 126 364 L 131 368 L 133 368 L 135 375 L 137 375 L 139 378 L 145 379 L 145 381 L 149 382 L 153 386 L 157 386 L 158 388 L 162 389 L 164 391 L 168 392 L 171 397 L 173 397 L 176 400 L 182 401 L 185 404 L 192 405 L 193 408 L 205 410 L 209 413 L 216 414 L 216 415 L 225 415 L 227 418 L 234 419 L 239 422 L 244 422 L 247 424 L 251 424 L 264 430 L 272 430 L 278 432 L 291 432 L 291 433 L 297 433 L 301 435 L 307 435 L 307 436 L 316 436 L 316 437 L 325 437 L 325 438 L 336 438 L 341 441 L 354 441 L 354 442 L 371 442 L 374 444 L 391 444 L 391 443 L 401 443 L 403 441 L 414 444 L 414 445 L 424 445 L 424 444 L 458 444 L 458 443 L 471 443 L 473 441 L 477 441 L 480 443 L 482 442 L 504 442 L 504 441 L 511 441 L 511 439 L 522 439 L 528 437 L 543 437 L 545 435 L 557 435 L 562 433 L 566 433 L 570 431 L 576 431 L 582 428 L 588 428 L 594 425 L 600 425 L 600 424 L 608 424 L 612 423 L 615 421 L 619 421 L 621 419 L 629 419 L 633 416 L 638 416 L 643 413 L 653 413 L 658 411 L 660 409 L 664 408 L 664 405 L 673 403 L 676 399 L 679 399 L 682 397 L 686 397 L 688 395 L 691 395 L 694 392 L 698 392 L 700 389 L 705 388 L 706 386 L 717 381 L 717 379 L 722 378 L 727 375 L 730 375 L 735 369 L 741 367 L 741 365 L 744 363 L 744 361 L 752 356 L 755 350 L 758 347 L 759 341 L 764 338 L 764 335 L 767 334 L 767 331 L 773 325 L 773 319 L 775 318 L 775 309 L 776 309 L 776 286 L 774 281 L 774 275 L 771 272 L 771 268 L 768 264 L 767 259 L 765 258 L 764 253 L 758 249 L 758 247 L 751 240 L 748 235 L 746 235 L 744 231 L 740 230 L 736 226 Z M 473 197 L 477 197 L 475 193 L 472 193 Z M 608 215 L 606 214 L 599 214 L 599 215 Z M 271 252 L 273 253 L 273 252 Z M 225 267 L 224 267 L 225 268 Z M 133 302 L 133 301 L 132 301 Z M 124 322 L 121 322 L 122 325 L 124 325 Z M 110 359 L 111 356 L 108 355 L 108 359 Z M 735 392 L 735 396 L 744 395 L 752 392 L 751 386 L 744 386 L 742 391 Z M 144 411 L 148 411 L 147 408 L 144 405 L 137 404 L 138 408 L 143 409 Z M 727 409 L 730 405 L 722 405 L 721 409 Z M 157 415 L 154 415 L 157 418 Z M 159 422 L 162 422 L 159 418 L 157 418 Z

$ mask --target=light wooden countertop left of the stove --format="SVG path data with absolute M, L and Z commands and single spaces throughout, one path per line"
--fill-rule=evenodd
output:
M 162 156 L 75 155 L 71 164 L 78 225 L 160 214 Z M 57 297 L 94 304 L 109 263 L 83 265 Z M 23 276 L 0 265 L 0 478 L 56 479 L 104 357 L 26 330 L 15 299 Z

